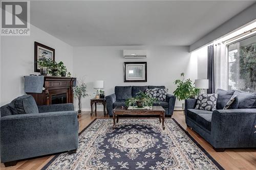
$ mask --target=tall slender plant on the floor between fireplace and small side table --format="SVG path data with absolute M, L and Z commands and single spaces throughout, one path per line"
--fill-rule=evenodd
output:
M 77 85 L 73 88 L 74 97 L 78 99 L 78 113 L 81 113 L 81 99 L 88 96 L 86 87 L 86 83 L 80 80 L 77 82 Z

